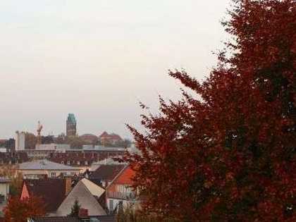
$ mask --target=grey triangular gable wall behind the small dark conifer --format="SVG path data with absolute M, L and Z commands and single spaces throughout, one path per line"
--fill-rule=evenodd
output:
M 101 189 L 101 187 L 97 187 L 98 189 Z M 62 204 L 58 207 L 56 216 L 67 216 L 70 214 L 71 207 L 73 206 L 76 199 L 78 200 L 81 208 L 88 210 L 88 214 L 90 216 L 106 215 L 106 212 L 101 207 L 96 197 L 94 197 L 92 192 L 88 190 L 85 183 L 80 180 L 78 184 L 75 185 L 73 190 L 71 190 L 71 192 L 68 194 L 66 199 L 63 200 Z

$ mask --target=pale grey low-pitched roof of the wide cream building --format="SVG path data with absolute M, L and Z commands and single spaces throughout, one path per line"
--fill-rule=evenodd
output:
M 38 161 L 25 162 L 18 165 L 20 170 L 61 170 L 61 171 L 70 171 L 70 170 L 80 170 L 72 166 L 66 166 L 63 164 L 57 164 L 47 159 L 42 159 Z

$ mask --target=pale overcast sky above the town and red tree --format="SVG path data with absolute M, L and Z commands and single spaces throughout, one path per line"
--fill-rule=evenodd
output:
M 0 0 L 0 138 L 139 127 L 138 101 L 178 99 L 169 68 L 202 79 L 227 35 L 229 0 Z

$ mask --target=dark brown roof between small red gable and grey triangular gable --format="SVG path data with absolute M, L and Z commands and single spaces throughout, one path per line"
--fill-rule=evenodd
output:
M 47 178 L 24 183 L 30 196 L 42 198 L 47 212 L 56 211 L 66 197 L 66 180 Z

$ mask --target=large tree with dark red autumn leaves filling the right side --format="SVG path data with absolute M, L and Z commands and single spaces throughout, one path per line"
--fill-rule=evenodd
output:
M 143 209 L 180 221 L 296 221 L 296 1 L 233 1 L 233 36 L 194 92 L 160 98 L 125 157 Z M 142 105 L 143 108 L 144 105 Z

